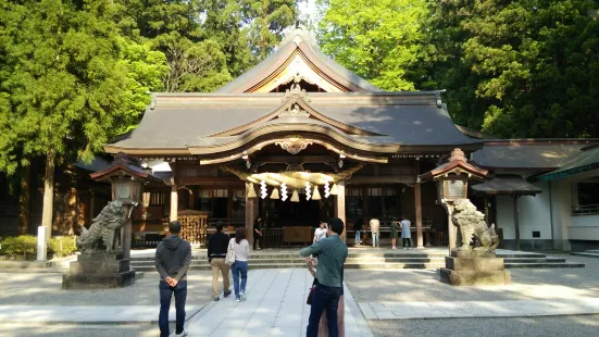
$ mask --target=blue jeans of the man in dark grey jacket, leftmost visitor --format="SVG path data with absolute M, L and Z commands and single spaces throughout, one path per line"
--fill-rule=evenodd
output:
M 158 316 L 158 325 L 160 326 L 160 337 L 171 335 L 169 330 L 169 310 L 171 309 L 171 297 L 175 292 L 175 309 L 177 311 L 176 333 L 183 333 L 185 323 L 185 300 L 187 298 L 187 280 L 179 280 L 176 286 L 171 287 L 164 280 L 160 280 L 158 285 L 160 289 L 160 315 Z

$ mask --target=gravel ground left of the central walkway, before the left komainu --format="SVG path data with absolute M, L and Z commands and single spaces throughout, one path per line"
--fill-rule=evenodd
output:
M 62 290 L 62 274 L 0 273 L 0 303 L 20 305 L 159 305 L 155 272 L 145 273 L 135 285 L 121 289 Z M 187 302 L 200 304 L 212 299 L 212 273 L 189 271 Z M 173 304 L 174 305 L 174 304 Z M 173 307 L 174 308 L 174 307 Z M 2 336 L 2 334 L 0 334 Z

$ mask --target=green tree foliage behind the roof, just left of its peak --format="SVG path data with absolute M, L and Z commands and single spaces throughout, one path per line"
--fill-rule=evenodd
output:
M 120 1 L 122 32 L 166 55 L 164 91 L 213 91 L 230 80 L 223 47 L 202 27 L 210 0 Z

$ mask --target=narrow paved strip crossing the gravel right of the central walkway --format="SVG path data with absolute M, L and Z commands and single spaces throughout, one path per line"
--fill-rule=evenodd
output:
M 531 317 L 599 314 L 599 298 L 520 301 L 360 303 L 366 320 Z

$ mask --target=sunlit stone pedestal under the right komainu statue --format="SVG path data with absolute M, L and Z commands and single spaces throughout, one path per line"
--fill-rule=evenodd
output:
M 503 258 L 489 251 L 452 250 L 440 270 L 441 280 L 452 286 L 492 286 L 511 283 Z

